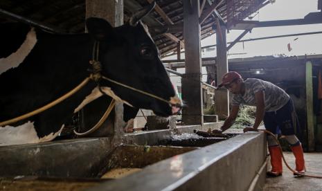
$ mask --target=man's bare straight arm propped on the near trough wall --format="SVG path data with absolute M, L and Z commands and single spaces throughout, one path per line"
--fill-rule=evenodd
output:
M 258 91 L 255 93 L 255 100 L 256 100 L 256 117 L 255 122 L 253 125 L 254 129 L 257 129 L 262 122 L 262 119 L 265 115 L 265 95 L 264 91 Z

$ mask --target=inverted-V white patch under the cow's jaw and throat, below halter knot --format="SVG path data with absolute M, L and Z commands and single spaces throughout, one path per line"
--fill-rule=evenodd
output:
M 101 87 L 102 91 L 104 93 L 106 93 L 108 96 L 111 96 L 111 98 L 114 98 L 114 100 L 116 102 L 123 102 L 127 105 L 129 105 L 130 107 L 133 107 L 132 104 L 129 104 L 129 102 L 122 100 L 120 97 L 116 96 L 116 94 L 114 93 L 114 91 L 111 91 L 111 88 L 109 87 Z M 100 90 L 98 89 L 98 87 L 94 88 L 91 93 L 89 94 L 89 96 L 86 96 L 86 98 L 80 103 L 80 105 L 74 110 L 75 112 L 80 111 L 80 109 L 82 109 L 85 105 L 89 104 L 89 102 L 92 102 L 93 100 L 96 100 L 97 98 L 100 98 L 100 96 L 102 96 L 102 92 L 100 92 Z

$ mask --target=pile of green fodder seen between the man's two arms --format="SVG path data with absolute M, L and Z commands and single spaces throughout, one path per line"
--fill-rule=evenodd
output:
M 244 127 L 252 127 L 255 122 L 256 107 L 241 106 L 235 123 L 231 128 L 243 129 Z

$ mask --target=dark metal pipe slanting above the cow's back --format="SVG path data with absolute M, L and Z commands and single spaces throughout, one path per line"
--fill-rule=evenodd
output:
M 15 20 L 15 21 L 22 22 L 24 24 L 28 24 L 28 25 L 31 25 L 31 26 L 36 26 L 36 27 L 42 28 L 43 30 L 46 30 L 46 31 L 48 31 L 50 33 L 66 33 L 62 29 L 53 28 L 51 26 L 46 26 L 46 25 L 44 25 L 42 23 L 39 23 L 37 21 L 33 21 L 31 19 L 28 19 L 26 17 L 22 17 L 20 15 L 16 15 L 15 13 L 8 12 L 7 10 L 3 10 L 1 8 L 0 8 L 0 15 L 3 15 L 5 17 L 8 17 L 9 19 L 12 19 L 12 20 Z

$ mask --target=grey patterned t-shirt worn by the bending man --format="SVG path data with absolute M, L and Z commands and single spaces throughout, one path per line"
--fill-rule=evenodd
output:
M 256 106 L 255 93 L 258 91 L 264 91 L 266 112 L 276 111 L 289 101 L 289 95 L 271 82 L 249 78 L 244 81 L 244 84 L 244 95 L 233 94 L 232 105 L 247 104 Z

